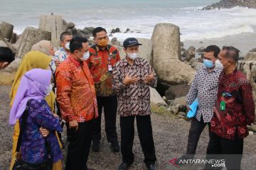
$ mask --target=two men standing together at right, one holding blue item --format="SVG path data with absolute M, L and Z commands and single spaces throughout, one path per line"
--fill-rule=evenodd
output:
M 208 125 L 210 141 L 208 159 L 224 159 L 226 169 L 240 169 L 243 139 L 249 134 L 247 125 L 255 121 L 252 86 L 237 64 L 239 50 L 216 45 L 206 47 L 203 67 L 198 69 L 186 96 L 187 106 L 198 101 L 196 115 L 191 120 L 186 154 L 176 160 L 193 159 L 198 140 Z M 217 160 L 217 161 L 218 161 Z M 206 164 L 205 169 L 221 169 Z

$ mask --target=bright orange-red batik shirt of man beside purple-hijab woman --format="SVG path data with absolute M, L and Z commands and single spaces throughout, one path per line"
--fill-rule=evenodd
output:
M 78 62 L 70 56 L 55 72 L 57 101 L 66 121 L 83 123 L 97 118 L 95 86 L 86 62 Z

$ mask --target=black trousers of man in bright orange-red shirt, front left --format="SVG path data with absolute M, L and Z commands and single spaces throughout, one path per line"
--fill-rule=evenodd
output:
M 78 123 L 78 131 L 68 130 L 69 144 L 65 170 L 86 170 L 87 159 L 90 153 L 92 142 L 92 130 L 95 126 L 95 119 L 85 123 Z

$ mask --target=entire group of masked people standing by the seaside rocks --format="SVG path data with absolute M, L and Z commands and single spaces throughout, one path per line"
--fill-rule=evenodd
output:
M 112 152 L 120 149 L 117 113 L 120 116 L 122 162 L 117 169 L 129 169 L 134 162 L 135 118 L 144 163 L 147 169 L 156 169 L 149 90 L 149 86 L 156 87 L 156 73 L 149 62 L 138 57 L 142 44 L 136 38 L 124 40 L 126 57 L 121 60 L 117 48 L 108 44 L 105 28 L 95 28 L 92 35 L 95 45 L 90 46 L 87 38 L 65 32 L 60 35 L 61 48 L 57 52 L 50 41 L 43 40 L 23 56 L 10 93 L 9 124 L 15 125 L 10 169 L 19 154 L 30 164 L 46 165 L 50 159 L 52 169 L 62 169 L 61 120 L 67 126 L 68 136 L 65 169 L 90 169 L 90 149 L 100 152 L 103 110 Z M 255 103 L 249 81 L 236 69 L 238 57 L 235 47 L 206 47 L 203 67 L 198 69 L 186 96 L 188 109 L 197 100 L 198 110 L 191 120 L 186 154 L 176 164 L 181 164 L 182 159 L 193 159 L 199 137 L 208 125 L 206 159 L 233 154 L 235 161 L 234 157 L 225 157 L 226 168 L 240 169 L 243 138 L 248 135 L 247 125 L 255 120 Z M 0 68 L 13 60 L 11 50 L 0 47 Z M 21 128 L 24 121 L 26 126 Z M 206 164 L 205 169 L 213 166 Z

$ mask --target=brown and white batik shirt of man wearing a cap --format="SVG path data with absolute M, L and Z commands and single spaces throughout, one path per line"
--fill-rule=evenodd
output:
M 144 83 L 146 75 L 154 74 L 154 80 Z M 140 79 L 135 84 L 124 85 L 126 75 L 137 75 Z M 118 113 L 120 116 L 150 115 L 150 89 L 155 88 L 157 77 L 149 62 L 136 58 L 133 65 L 126 59 L 120 60 L 113 69 L 113 89 L 118 98 Z

